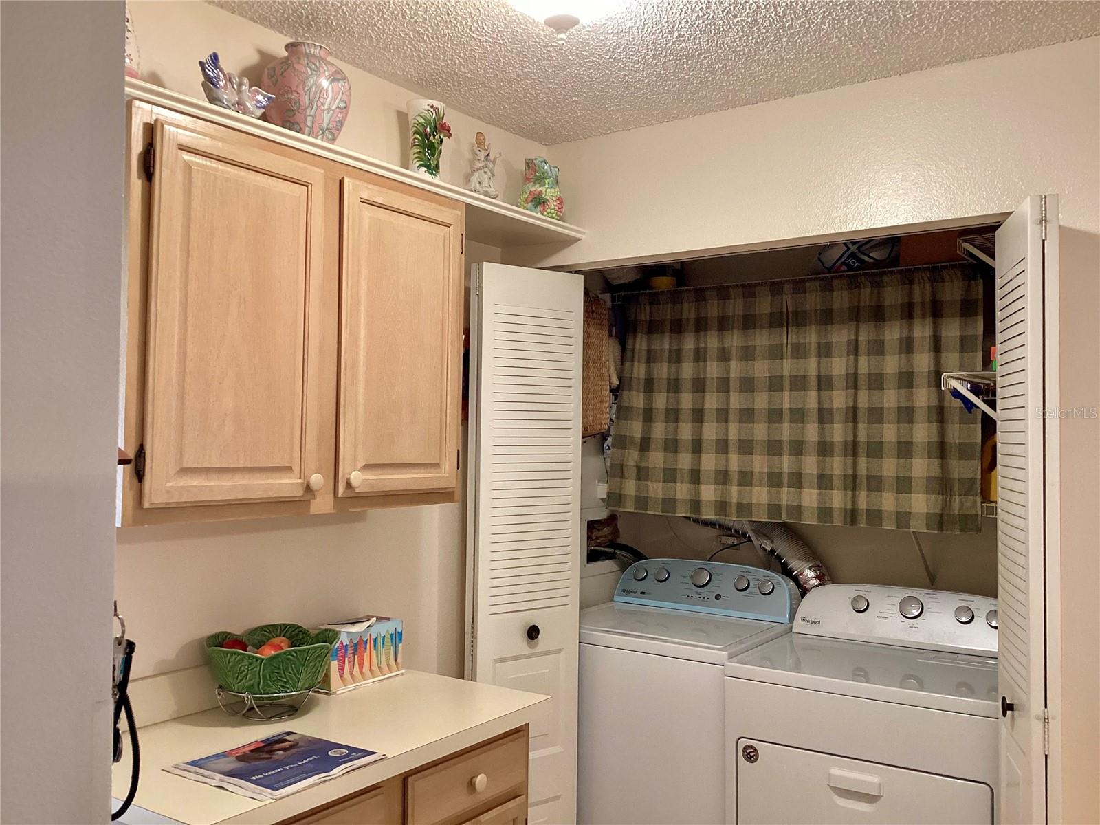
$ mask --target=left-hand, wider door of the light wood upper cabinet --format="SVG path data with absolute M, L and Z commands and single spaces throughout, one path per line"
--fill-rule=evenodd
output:
M 304 498 L 323 172 L 231 130 L 155 135 L 143 504 Z

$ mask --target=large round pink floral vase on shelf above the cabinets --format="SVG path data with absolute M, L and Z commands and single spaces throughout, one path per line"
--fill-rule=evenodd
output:
M 260 87 L 275 99 L 264 111 L 272 123 L 336 143 L 351 108 L 351 81 L 328 59 L 319 43 L 286 44 L 286 57 L 272 63 Z

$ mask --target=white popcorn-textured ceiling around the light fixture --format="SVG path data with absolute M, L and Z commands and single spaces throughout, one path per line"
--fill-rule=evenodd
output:
M 624 0 L 562 47 L 505 0 L 212 4 L 548 145 L 1100 34 L 1087 0 Z

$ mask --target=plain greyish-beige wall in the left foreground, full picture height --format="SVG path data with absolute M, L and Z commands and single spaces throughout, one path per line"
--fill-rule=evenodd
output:
M 0 821 L 85 825 L 110 801 L 123 8 L 0 19 Z

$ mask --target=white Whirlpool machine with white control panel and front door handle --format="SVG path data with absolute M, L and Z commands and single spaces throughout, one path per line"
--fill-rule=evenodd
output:
M 728 822 L 994 821 L 996 600 L 816 587 L 726 676 Z

